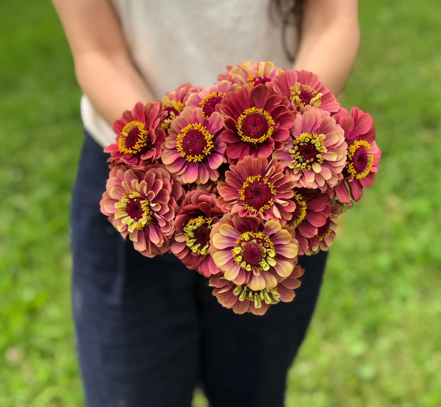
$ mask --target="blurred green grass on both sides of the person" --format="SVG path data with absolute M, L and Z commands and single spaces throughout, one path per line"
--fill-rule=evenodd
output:
M 374 117 L 383 158 L 340 218 L 287 405 L 438 407 L 441 4 L 360 3 L 340 102 Z M 79 407 L 67 214 L 80 92 L 49 1 L 3 0 L 0 49 L 0 406 Z

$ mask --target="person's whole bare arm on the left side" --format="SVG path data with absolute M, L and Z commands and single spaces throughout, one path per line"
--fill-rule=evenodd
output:
M 120 23 L 108 0 L 52 3 L 71 47 L 78 84 L 109 124 L 136 102 L 153 102 L 131 61 Z

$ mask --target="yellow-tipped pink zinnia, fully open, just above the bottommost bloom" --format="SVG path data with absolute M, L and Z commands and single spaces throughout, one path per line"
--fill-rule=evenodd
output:
M 224 278 L 253 291 L 270 290 L 286 279 L 297 249 L 287 226 L 254 216 L 224 215 L 210 234 L 210 252 Z

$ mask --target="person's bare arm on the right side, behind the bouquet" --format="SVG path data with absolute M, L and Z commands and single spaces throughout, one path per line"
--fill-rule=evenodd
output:
M 306 0 L 294 69 L 314 72 L 337 95 L 351 73 L 359 38 L 357 0 Z

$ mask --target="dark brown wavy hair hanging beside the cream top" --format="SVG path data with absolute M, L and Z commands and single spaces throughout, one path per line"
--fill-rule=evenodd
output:
M 288 47 L 287 28 L 295 26 L 300 38 L 300 24 L 302 22 L 304 0 L 270 0 L 269 14 L 273 21 L 282 26 L 281 37 L 284 51 L 287 57 L 294 61 L 292 50 Z

